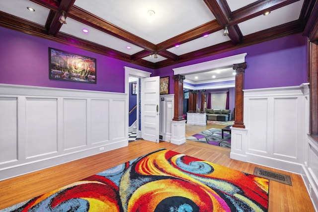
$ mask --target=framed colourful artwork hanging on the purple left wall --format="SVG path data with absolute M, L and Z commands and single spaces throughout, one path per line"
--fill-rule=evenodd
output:
M 49 48 L 49 78 L 96 84 L 96 59 Z

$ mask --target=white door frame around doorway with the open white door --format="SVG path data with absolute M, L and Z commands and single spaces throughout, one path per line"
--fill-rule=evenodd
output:
M 150 77 L 150 74 L 152 74 L 152 72 L 148 72 L 148 71 L 142 71 L 139 69 L 133 69 L 130 67 L 126 67 L 124 66 L 125 69 L 125 94 L 126 94 L 126 109 L 125 109 L 125 126 L 127 127 L 126 129 L 126 137 L 127 137 L 127 141 L 128 141 L 128 131 L 129 131 L 129 77 L 130 76 L 134 76 L 137 78 L 146 78 L 146 77 Z M 138 102 L 139 100 L 137 100 Z M 138 107 L 139 108 L 139 107 Z M 138 110 L 138 112 L 140 112 L 140 109 Z M 137 114 L 137 116 L 139 116 L 139 114 Z M 137 118 L 138 119 L 138 118 Z M 140 121 L 140 120 L 139 120 Z M 139 132 L 139 122 L 137 123 L 137 133 Z

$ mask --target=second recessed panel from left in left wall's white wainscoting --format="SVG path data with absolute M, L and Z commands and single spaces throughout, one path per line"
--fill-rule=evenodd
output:
M 26 158 L 57 152 L 57 98 L 25 98 Z

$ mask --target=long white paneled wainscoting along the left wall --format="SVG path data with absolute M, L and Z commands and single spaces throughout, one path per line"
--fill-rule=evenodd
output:
M 126 95 L 0 84 L 0 180 L 127 146 Z

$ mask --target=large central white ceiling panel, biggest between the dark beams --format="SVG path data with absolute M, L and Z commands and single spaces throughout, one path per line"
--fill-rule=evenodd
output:
M 76 0 L 75 5 L 153 44 L 215 19 L 203 0 Z M 152 18 L 149 10 L 155 11 Z

